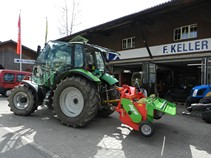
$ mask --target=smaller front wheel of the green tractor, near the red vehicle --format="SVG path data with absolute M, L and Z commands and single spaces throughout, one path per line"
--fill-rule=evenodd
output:
M 8 101 L 10 110 L 16 115 L 27 116 L 37 110 L 35 95 L 25 85 L 16 86 L 12 89 Z

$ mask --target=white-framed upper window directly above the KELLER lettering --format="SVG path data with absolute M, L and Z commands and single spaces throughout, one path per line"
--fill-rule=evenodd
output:
M 197 24 L 182 26 L 174 29 L 174 41 L 197 37 Z

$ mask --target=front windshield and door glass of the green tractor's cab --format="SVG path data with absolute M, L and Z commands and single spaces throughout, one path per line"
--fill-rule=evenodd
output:
M 37 57 L 33 68 L 32 80 L 39 85 L 53 85 L 54 75 L 72 66 L 72 45 L 50 41 Z M 47 82 L 49 81 L 50 82 Z

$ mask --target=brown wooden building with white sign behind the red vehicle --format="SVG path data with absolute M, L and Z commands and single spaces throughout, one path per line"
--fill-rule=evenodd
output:
M 0 42 L 0 65 L 5 69 L 20 70 L 20 55 L 16 53 L 17 43 L 9 40 Z M 22 46 L 21 69 L 31 71 L 36 52 L 28 47 Z

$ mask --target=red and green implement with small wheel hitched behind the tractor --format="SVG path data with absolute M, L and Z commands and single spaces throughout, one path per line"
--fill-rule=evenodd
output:
M 146 97 L 135 87 L 123 85 L 117 90 L 121 97 L 115 110 L 119 112 L 121 122 L 141 131 L 144 136 L 154 133 L 153 119 L 161 118 L 164 113 L 176 114 L 175 104 L 155 96 Z

